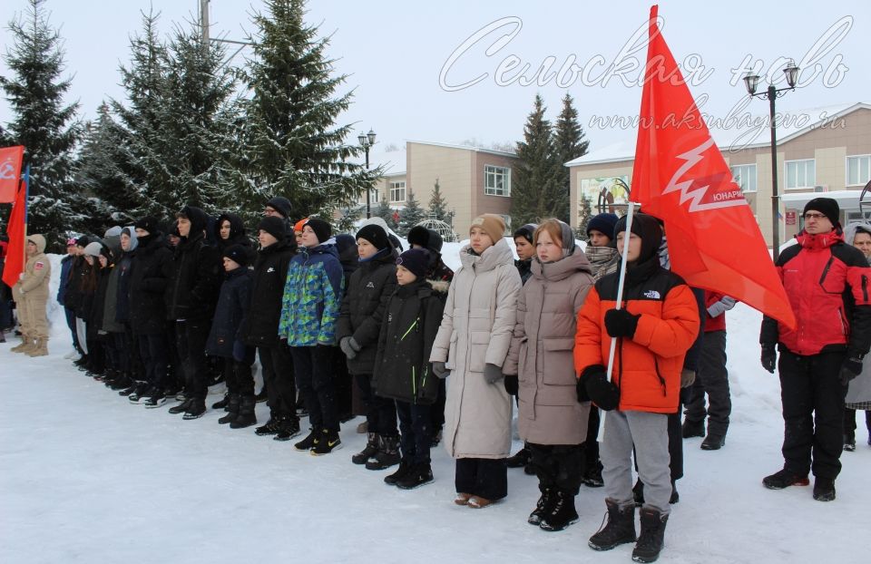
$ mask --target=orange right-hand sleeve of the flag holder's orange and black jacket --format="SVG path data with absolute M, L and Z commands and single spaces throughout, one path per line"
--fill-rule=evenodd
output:
M 699 302 L 685 284 L 672 287 L 662 316 L 641 314 L 632 341 L 664 358 L 685 355 L 699 336 Z

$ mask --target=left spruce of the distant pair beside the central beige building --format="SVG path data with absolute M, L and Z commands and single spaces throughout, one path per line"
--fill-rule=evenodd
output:
M 554 151 L 551 122 L 544 118 L 544 112 L 544 101 L 536 94 L 533 112 L 524 126 L 524 141 L 517 143 L 517 162 L 511 186 L 514 225 L 556 217 L 563 206 L 560 199 L 561 164 Z

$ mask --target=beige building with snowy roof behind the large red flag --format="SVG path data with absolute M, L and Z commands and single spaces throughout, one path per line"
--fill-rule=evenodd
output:
M 838 200 L 842 224 L 859 219 L 859 198 L 871 180 L 871 103 L 785 112 L 782 117 L 782 125 L 778 125 L 781 243 L 798 233 L 804 205 L 817 196 Z M 770 246 L 771 145 L 767 123 L 740 131 L 712 130 L 711 134 Z M 625 201 L 626 189 L 631 189 L 634 151 L 632 139 L 566 163 L 571 170 L 573 226 L 578 225 L 582 196 L 591 201 L 593 213 L 609 209 L 609 203 Z M 864 211 L 869 218 L 871 194 L 866 200 Z

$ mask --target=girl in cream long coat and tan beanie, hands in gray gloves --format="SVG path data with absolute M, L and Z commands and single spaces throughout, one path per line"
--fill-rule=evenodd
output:
M 521 281 L 494 214 L 472 222 L 463 267 L 447 293 L 430 361 L 451 375 L 445 404 L 445 449 L 456 459 L 455 503 L 486 507 L 508 493 L 504 458 L 511 448 L 511 396 L 502 365 L 514 330 Z

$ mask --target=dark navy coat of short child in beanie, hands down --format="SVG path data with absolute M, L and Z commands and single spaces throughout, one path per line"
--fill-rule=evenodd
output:
M 206 353 L 212 356 L 242 360 L 240 329 L 251 303 L 251 285 L 254 273 L 248 267 L 240 267 L 227 273 L 220 286 L 218 306 L 211 321 Z M 234 350 L 236 355 L 234 355 Z M 253 358 L 251 359 L 253 361 Z

